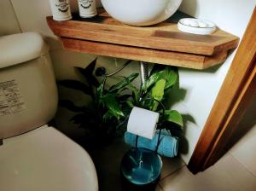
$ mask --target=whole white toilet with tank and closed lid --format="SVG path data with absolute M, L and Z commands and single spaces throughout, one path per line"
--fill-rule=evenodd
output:
M 98 190 L 89 154 L 47 125 L 56 108 L 43 38 L 36 32 L 0 37 L 1 191 Z

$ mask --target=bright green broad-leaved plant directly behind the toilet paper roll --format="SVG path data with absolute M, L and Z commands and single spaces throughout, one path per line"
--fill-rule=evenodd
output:
M 139 92 L 139 95 L 133 96 L 134 99 L 129 102 L 129 106 L 143 107 L 162 113 L 159 101 L 164 102 L 164 105 L 166 105 L 165 101 L 170 95 L 171 90 L 175 87 L 178 88 L 177 67 L 154 65 L 149 78 L 142 85 L 141 89 L 133 91 L 134 94 Z M 164 120 L 166 121 L 167 130 L 172 130 L 173 126 L 183 127 L 182 115 L 176 110 L 166 110 Z

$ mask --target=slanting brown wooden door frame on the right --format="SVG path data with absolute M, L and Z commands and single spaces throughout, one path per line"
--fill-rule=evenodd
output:
M 188 168 L 193 173 L 206 170 L 226 152 L 227 140 L 239 128 L 237 124 L 255 92 L 255 23 L 256 9 L 189 160 Z

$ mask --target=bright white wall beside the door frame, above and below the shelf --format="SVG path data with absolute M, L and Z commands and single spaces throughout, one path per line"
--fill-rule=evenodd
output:
M 255 0 L 183 0 L 180 9 L 196 18 L 212 20 L 219 28 L 241 38 L 255 4 Z M 182 157 L 186 163 L 189 162 L 195 149 L 195 144 L 201 135 L 234 55 L 235 52 L 229 56 L 221 67 L 206 71 L 179 70 L 180 87 L 187 90 L 187 95 L 183 101 L 180 101 L 174 107 L 182 110 L 183 113 L 191 114 L 195 119 L 195 124 L 189 122 L 185 130 L 185 137 L 189 146 L 183 146 L 188 150 L 185 149 Z

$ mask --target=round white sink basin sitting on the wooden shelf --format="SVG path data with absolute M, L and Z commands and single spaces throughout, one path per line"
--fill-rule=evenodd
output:
M 131 26 L 150 26 L 168 19 L 182 0 L 102 0 L 114 19 Z

